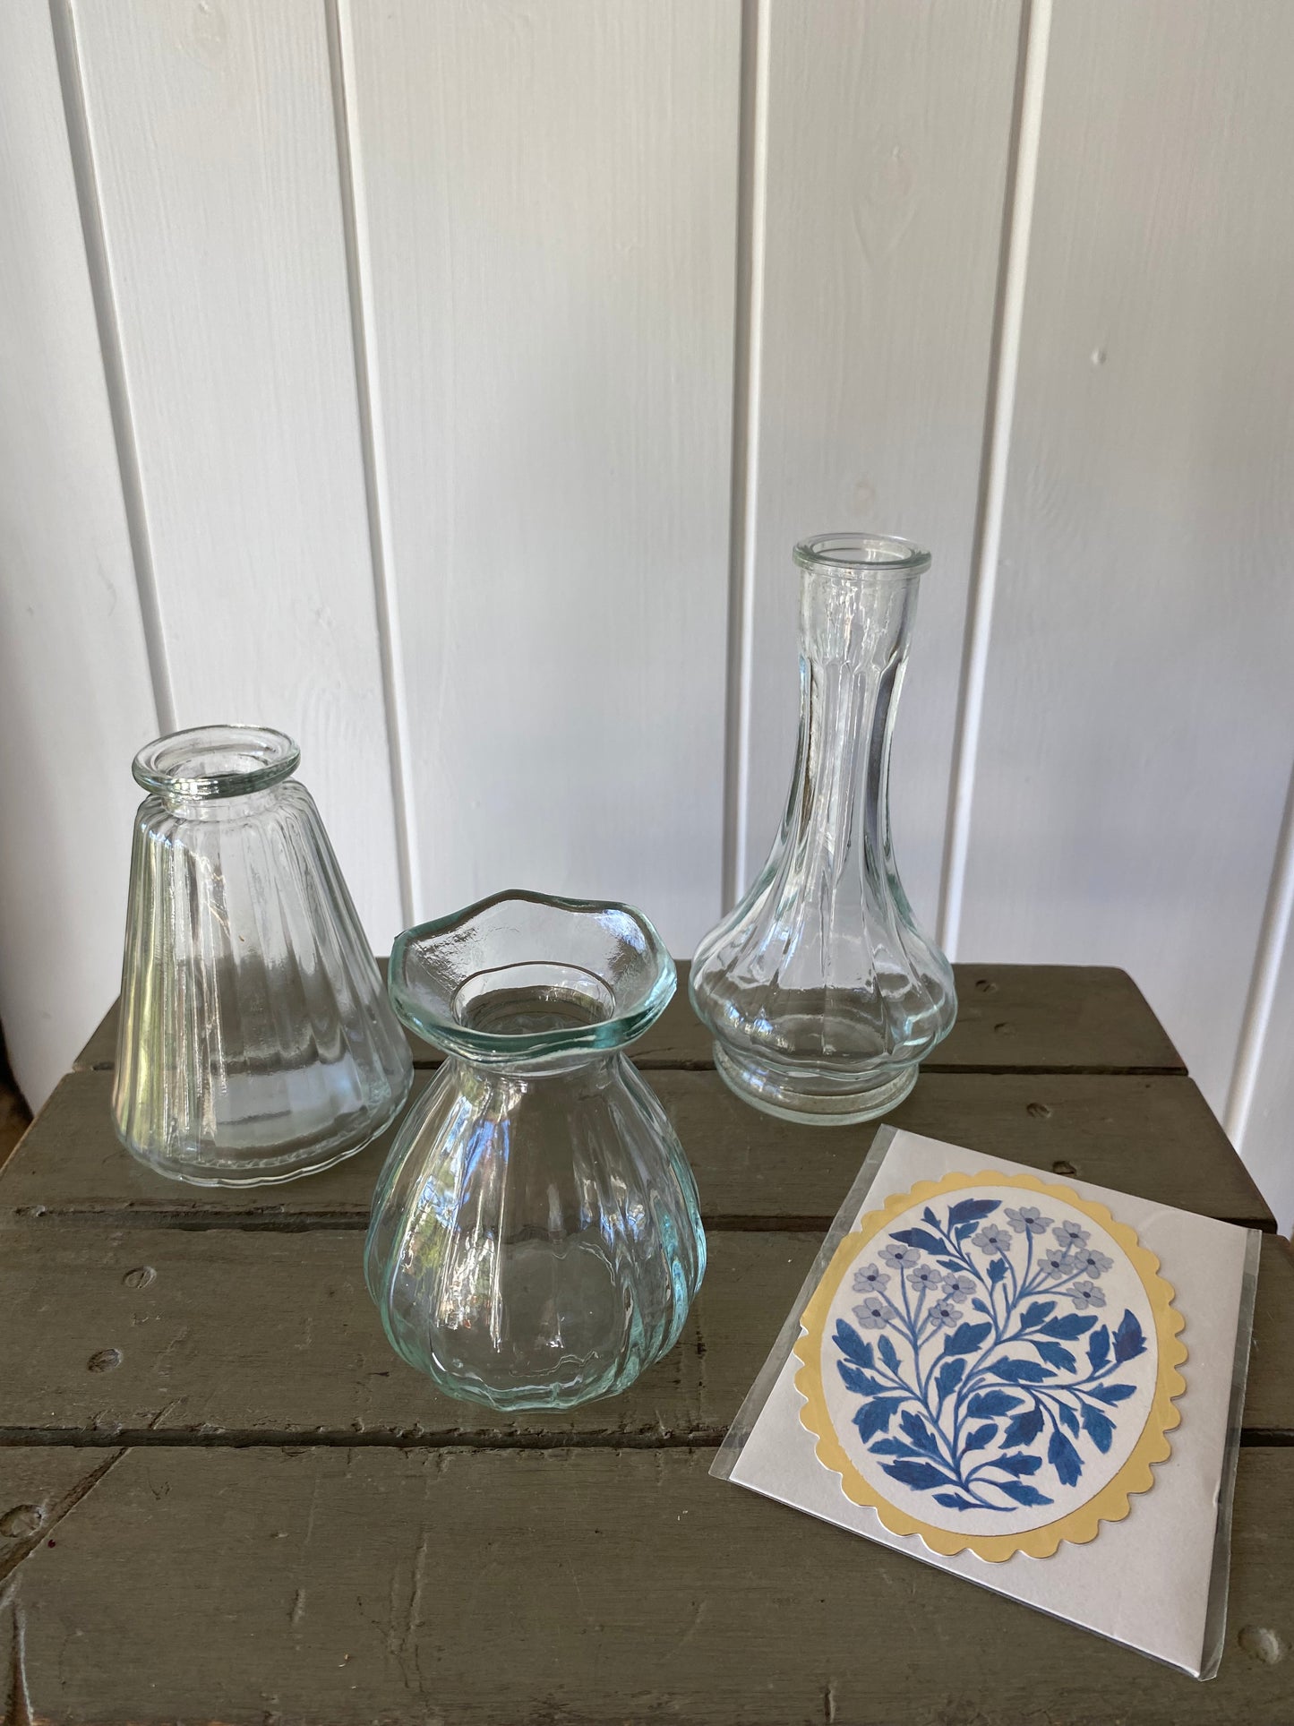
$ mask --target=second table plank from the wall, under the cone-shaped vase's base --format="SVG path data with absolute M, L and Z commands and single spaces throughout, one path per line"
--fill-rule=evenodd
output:
M 414 1079 L 416 1091 L 430 1075 Z M 861 1127 L 799 1127 L 738 1101 L 713 1072 L 650 1082 L 692 1158 L 713 1227 L 825 1227 L 871 1144 Z M 109 1120 L 112 1075 L 69 1074 L 0 1174 L 0 1210 L 117 1219 L 359 1227 L 390 1134 L 309 1181 L 229 1191 L 141 1169 Z M 1033 1169 L 1273 1229 L 1244 1163 L 1189 1079 L 923 1074 L 887 1120 Z

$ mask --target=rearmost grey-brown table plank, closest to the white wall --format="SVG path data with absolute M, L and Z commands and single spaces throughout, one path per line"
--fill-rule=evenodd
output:
M 378 965 L 386 970 L 386 961 Z M 928 1061 L 930 1072 L 1185 1072 L 1182 1056 L 1127 972 L 1101 965 L 954 965 L 958 1024 Z M 711 1067 L 711 1043 L 687 999 L 688 961 L 678 989 L 635 1044 L 642 1068 Z M 411 1036 L 416 1067 L 435 1067 L 437 1049 Z M 72 1063 L 105 1072 L 116 1061 L 117 1005 Z

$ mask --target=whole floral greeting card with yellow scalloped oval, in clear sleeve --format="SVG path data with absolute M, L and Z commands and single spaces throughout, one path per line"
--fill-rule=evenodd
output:
M 714 1472 L 1209 1676 L 1256 1246 L 882 1129 Z

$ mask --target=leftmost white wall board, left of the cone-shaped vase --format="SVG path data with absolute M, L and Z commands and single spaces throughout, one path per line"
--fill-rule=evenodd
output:
M 0 1018 L 45 1101 L 121 973 L 155 728 L 45 0 L 0 7 Z

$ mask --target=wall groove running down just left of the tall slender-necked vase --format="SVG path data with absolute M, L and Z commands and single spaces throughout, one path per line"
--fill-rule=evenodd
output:
M 751 620 L 759 482 L 768 198 L 768 31 L 771 0 L 742 0 L 733 319 L 732 514 L 728 525 L 728 701 L 723 775 L 723 908 L 747 884 L 751 791 Z

